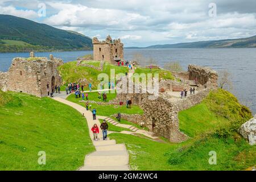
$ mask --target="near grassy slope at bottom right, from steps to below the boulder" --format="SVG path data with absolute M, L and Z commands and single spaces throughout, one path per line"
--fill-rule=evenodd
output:
M 190 139 L 181 144 L 117 133 L 109 137 L 126 144 L 133 170 L 243 170 L 256 163 L 256 146 L 241 137 Z M 217 165 L 208 163 L 210 151 L 216 151 Z

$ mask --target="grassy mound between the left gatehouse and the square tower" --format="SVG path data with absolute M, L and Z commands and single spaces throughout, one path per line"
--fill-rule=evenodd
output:
M 92 88 L 97 89 L 98 84 L 100 84 L 100 80 L 98 80 L 98 75 L 100 73 L 106 73 L 110 79 L 110 71 L 113 69 L 115 74 L 128 72 L 127 67 L 118 67 L 113 64 L 105 63 L 103 71 L 97 71 L 96 69 L 82 67 L 76 65 L 77 61 L 71 61 L 61 65 L 58 69 L 60 71 L 60 75 L 63 78 L 64 84 L 69 82 L 78 82 L 80 78 L 86 78 L 88 82 L 92 83 Z M 106 80 L 105 80 L 106 81 Z M 107 80 L 107 82 L 110 80 Z

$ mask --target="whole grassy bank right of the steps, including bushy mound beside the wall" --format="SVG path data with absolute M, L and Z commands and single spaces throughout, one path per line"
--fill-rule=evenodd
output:
M 216 90 L 199 105 L 179 113 L 180 129 L 190 137 L 183 143 L 159 143 L 132 135 L 111 134 L 125 143 L 134 170 L 242 170 L 256 163 L 256 146 L 237 133 L 251 118 L 231 93 Z M 209 164 L 215 151 L 217 164 Z

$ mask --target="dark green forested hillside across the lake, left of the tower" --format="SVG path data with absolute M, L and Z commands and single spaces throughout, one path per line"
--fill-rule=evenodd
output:
M 0 52 L 92 49 L 92 39 L 77 32 L 11 15 L 0 15 Z

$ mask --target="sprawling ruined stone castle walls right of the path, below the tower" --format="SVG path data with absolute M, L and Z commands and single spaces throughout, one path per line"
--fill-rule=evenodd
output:
M 160 81 L 160 89 L 163 89 L 164 92 L 159 93 L 159 97 L 155 100 L 149 99 L 148 96 L 152 95 L 149 93 L 118 93 L 114 101 L 125 103 L 126 100 L 131 100 L 134 105 L 141 106 L 144 111 L 143 115 L 122 114 L 123 119 L 146 126 L 156 135 L 167 138 L 171 142 L 182 142 L 189 137 L 180 131 L 179 111 L 200 104 L 208 96 L 210 90 L 217 89 L 218 75 L 216 71 L 210 68 L 197 65 L 189 65 L 188 72 L 176 72 L 173 74 L 181 76 L 176 77 L 183 81 Z M 195 84 L 196 78 L 198 80 L 197 84 Z M 187 98 L 181 99 L 180 92 L 173 91 L 177 86 L 189 90 L 191 84 L 193 86 L 196 85 L 196 93 L 189 95 Z

